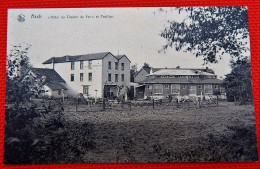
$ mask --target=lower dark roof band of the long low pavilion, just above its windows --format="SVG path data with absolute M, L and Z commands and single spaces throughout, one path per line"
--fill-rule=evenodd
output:
M 187 78 L 147 78 L 140 83 L 144 84 L 160 84 L 160 83 L 184 83 L 184 84 L 221 84 L 223 81 L 220 79 L 187 79 Z

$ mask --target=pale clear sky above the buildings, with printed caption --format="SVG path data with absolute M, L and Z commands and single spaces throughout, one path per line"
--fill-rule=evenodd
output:
M 140 68 L 212 68 L 219 76 L 230 72 L 230 57 L 203 65 L 202 58 L 174 48 L 159 53 L 166 40 L 160 37 L 168 20 L 181 22 L 184 14 L 173 8 L 57 8 L 9 9 L 7 54 L 12 45 L 30 44 L 28 56 L 34 67 L 51 57 L 111 52 L 125 54 Z M 18 15 L 25 17 L 19 22 Z

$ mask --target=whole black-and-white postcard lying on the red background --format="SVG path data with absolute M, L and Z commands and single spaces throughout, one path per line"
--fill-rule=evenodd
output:
M 4 164 L 258 161 L 248 9 L 8 9 Z

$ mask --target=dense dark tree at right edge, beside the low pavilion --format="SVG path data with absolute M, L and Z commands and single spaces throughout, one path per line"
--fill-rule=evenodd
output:
M 240 104 L 252 101 L 251 65 L 248 59 L 231 62 L 231 73 L 227 74 L 223 86 L 228 100 L 239 100 Z

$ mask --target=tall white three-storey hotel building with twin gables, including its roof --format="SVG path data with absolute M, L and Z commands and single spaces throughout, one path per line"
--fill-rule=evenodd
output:
M 53 57 L 43 63 L 65 81 L 68 96 L 103 98 L 124 95 L 130 86 L 130 60 L 110 52 Z

